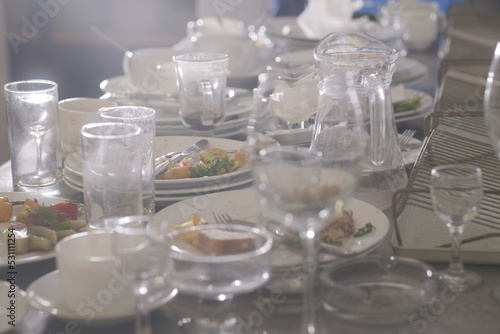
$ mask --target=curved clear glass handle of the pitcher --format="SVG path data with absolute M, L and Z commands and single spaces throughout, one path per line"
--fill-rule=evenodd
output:
M 375 166 L 382 166 L 385 161 L 387 140 L 384 86 L 380 78 L 374 73 L 364 76 L 363 85 L 368 92 L 370 108 L 370 143 L 368 154 Z

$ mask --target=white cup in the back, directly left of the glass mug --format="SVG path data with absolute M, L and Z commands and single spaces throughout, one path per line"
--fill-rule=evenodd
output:
M 185 51 L 171 48 L 143 48 L 123 55 L 123 72 L 135 93 L 177 94 L 177 77 L 172 58 Z

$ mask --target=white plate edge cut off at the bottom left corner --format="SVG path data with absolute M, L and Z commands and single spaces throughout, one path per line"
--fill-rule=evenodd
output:
M 4 279 L 7 279 L 5 277 Z M 9 282 L 0 283 L 0 333 L 7 333 L 12 329 L 15 329 L 19 323 L 23 320 L 26 314 L 26 309 L 28 307 L 28 302 L 26 300 L 26 292 L 22 290 L 17 285 L 11 285 Z M 9 317 L 10 310 L 7 307 L 14 305 L 14 314 L 12 318 Z M 12 322 L 12 324 L 9 324 Z

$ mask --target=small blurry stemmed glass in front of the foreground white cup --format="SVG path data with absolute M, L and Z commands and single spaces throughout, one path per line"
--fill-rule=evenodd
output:
M 135 334 L 152 334 L 147 298 L 154 277 L 169 268 L 168 247 L 162 233 L 165 222 L 151 223 L 151 216 L 125 216 L 107 220 L 113 225 L 113 253 L 119 272 L 133 284 Z

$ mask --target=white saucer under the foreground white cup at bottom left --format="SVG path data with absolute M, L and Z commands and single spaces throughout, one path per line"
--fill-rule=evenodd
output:
M 151 295 L 146 304 L 146 308 L 150 311 L 171 300 L 177 294 L 177 289 L 153 289 L 153 292 L 154 293 Z M 86 326 L 123 322 L 130 320 L 135 316 L 133 309 L 127 314 L 114 314 L 106 317 L 103 317 L 99 312 L 95 312 L 95 317 L 92 320 L 89 320 L 89 313 L 82 312 L 86 314 L 80 315 L 68 309 L 63 302 L 63 296 L 61 295 L 61 290 L 59 289 L 58 270 L 50 272 L 31 283 L 28 287 L 27 294 L 28 302 L 35 309 L 41 312 L 49 313 L 58 319 L 74 321 Z

